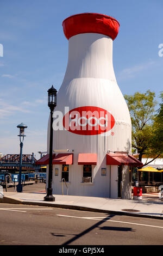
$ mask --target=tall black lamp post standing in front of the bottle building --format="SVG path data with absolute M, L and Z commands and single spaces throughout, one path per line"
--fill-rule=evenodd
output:
M 48 89 L 48 107 L 51 109 L 51 126 L 50 126 L 50 138 L 49 138 L 49 172 L 48 172 L 48 188 L 47 195 L 44 198 L 45 201 L 55 201 L 53 197 L 53 188 L 52 188 L 52 155 L 53 155 L 53 113 L 54 108 L 57 106 L 57 90 L 52 86 Z

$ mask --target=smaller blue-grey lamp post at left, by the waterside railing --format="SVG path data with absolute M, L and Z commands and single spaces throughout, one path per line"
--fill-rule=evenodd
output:
M 18 185 L 17 185 L 17 192 L 22 192 L 22 184 L 21 184 L 21 176 L 22 176 L 22 151 L 23 151 L 23 141 L 24 137 L 24 129 L 27 128 L 27 125 L 21 123 L 17 125 L 17 128 L 20 129 L 19 136 L 20 137 L 20 167 L 19 167 L 19 177 L 18 177 Z

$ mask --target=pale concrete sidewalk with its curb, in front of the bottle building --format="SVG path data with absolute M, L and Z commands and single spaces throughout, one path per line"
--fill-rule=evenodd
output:
M 101 197 L 54 195 L 55 202 L 45 202 L 46 193 L 3 192 L 0 203 L 50 206 L 74 210 L 107 212 L 116 215 L 129 215 L 163 219 L 163 201 L 161 199 L 111 199 Z M 126 211 L 124 211 L 126 210 Z

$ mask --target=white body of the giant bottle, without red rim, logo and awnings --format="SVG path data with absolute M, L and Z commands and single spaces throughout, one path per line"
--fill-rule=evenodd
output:
M 72 36 L 68 42 L 67 69 L 57 94 L 55 113 L 60 111 L 64 116 L 65 107 L 71 110 L 95 106 L 112 114 L 115 124 L 109 132 L 98 135 L 79 135 L 60 126 L 59 130 L 53 132 L 53 149 L 74 150 L 74 163 L 70 174 L 71 194 L 109 197 L 109 175 L 105 181 L 101 180 L 102 167 L 106 168 L 109 174 L 106 153 L 108 150 L 130 153 L 131 150 L 130 114 L 114 74 L 112 39 L 102 34 L 86 33 Z M 78 165 L 79 153 L 97 154 L 97 165 L 93 167 L 94 187 L 91 189 L 88 187 L 79 189 L 78 183 L 82 182 L 82 167 Z M 114 175 L 117 175 L 117 168 Z M 116 191 L 115 179 L 112 181 L 112 186 Z M 61 192 L 61 186 L 58 184 L 60 181 L 60 177 L 53 179 L 55 193 Z M 116 192 L 112 197 L 117 197 Z

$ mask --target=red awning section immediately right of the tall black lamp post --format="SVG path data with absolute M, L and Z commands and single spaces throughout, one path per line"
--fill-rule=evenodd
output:
M 53 164 L 73 164 L 73 154 L 60 153 L 53 159 Z

